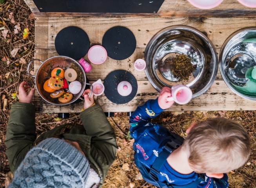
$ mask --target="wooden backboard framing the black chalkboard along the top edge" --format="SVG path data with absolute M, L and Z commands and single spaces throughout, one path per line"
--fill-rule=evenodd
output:
M 197 9 L 187 0 L 165 0 L 158 13 L 131 14 L 131 13 L 40 13 L 33 0 L 25 0 L 31 11 L 37 16 L 93 16 L 93 17 L 116 17 L 116 16 L 159 16 L 159 17 L 255 17 L 255 9 L 241 5 L 237 0 L 224 0 L 214 9 Z

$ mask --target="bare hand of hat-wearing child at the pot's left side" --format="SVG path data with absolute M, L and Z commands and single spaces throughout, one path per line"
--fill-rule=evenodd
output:
M 34 88 L 30 90 L 29 94 L 27 94 L 27 90 L 30 88 L 30 86 L 26 84 L 26 81 L 22 81 L 19 86 L 19 101 L 21 103 L 31 103 L 34 95 Z

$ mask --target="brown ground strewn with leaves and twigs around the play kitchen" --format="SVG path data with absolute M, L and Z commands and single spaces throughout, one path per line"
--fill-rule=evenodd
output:
M 24 31 L 25 30 L 25 31 Z M 29 34 L 27 33 L 29 32 Z M 5 155 L 5 134 L 11 104 L 18 101 L 18 85 L 23 80 L 33 86 L 27 75 L 27 65 L 34 56 L 34 15 L 23 0 L 0 0 L 0 187 L 7 187 L 12 179 Z M 32 71 L 32 70 L 31 70 Z M 256 188 L 256 111 L 228 112 L 163 112 L 153 120 L 169 130 L 184 136 L 192 122 L 211 117 L 226 117 L 240 122 L 251 137 L 252 152 L 241 168 L 229 172 L 230 188 Z M 77 121 L 79 114 L 60 119 L 57 114 L 36 114 L 36 132 L 50 130 L 63 123 Z M 146 183 L 133 161 L 133 139 L 129 135 L 129 117 L 116 113 L 108 117 L 118 143 L 116 160 L 109 169 L 103 188 L 153 188 Z M 77 123 L 81 124 L 81 121 Z

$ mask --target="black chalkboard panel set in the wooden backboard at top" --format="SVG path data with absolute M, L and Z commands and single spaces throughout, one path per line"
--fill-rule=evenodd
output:
M 40 12 L 157 13 L 164 0 L 33 0 Z

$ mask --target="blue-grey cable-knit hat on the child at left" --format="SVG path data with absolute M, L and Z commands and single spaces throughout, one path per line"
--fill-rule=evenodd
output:
M 48 138 L 27 153 L 8 188 L 84 188 L 89 168 L 74 146 Z

